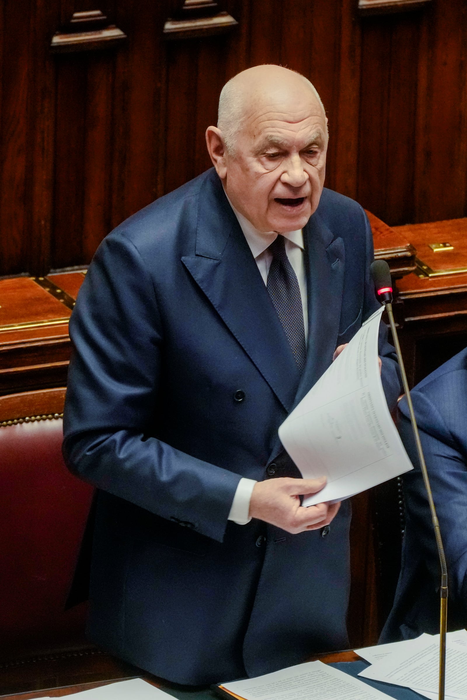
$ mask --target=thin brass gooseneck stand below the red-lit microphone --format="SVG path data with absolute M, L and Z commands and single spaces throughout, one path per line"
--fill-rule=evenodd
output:
M 396 324 L 394 323 L 394 316 L 392 312 L 391 301 L 384 300 L 382 302 L 389 316 L 389 324 L 391 325 L 391 332 L 393 337 L 394 346 L 396 347 L 396 353 L 398 358 L 398 363 L 400 367 L 400 374 L 402 374 L 402 382 L 405 391 L 405 396 L 407 398 L 407 405 L 409 407 L 410 422 L 412 423 L 412 430 L 414 432 L 415 444 L 417 445 L 417 452 L 420 461 L 421 473 L 423 475 L 423 480 L 425 483 L 426 494 L 428 496 L 428 503 L 430 505 L 431 521 L 433 523 L 433 529 L 435 531 L 436 547 L 438 547 L 438 556 L 440 558 L 441 564 L 441 588 L 440 588 L 440 684 L 438 689 L 438 700 L 445 700 L 445 675 L 446 675 L 446 627 L 447 627 L 447 567 L 445 550 L 442 547 L 440 524 L 438 522 L 438 517 L 436 515 L 435 504 L 433 502 L 433 494 L 431 493 L 431 486 L 428 479 L 428 472 L 426 471 L 425 458 L 423 455 L 423 450 L 421 449 L 421 442 L 419 436 L 419 430 L 417 428 L 417 421 L 415 420 L 414 407 L 412 405 L 412 399 L 410 398 L 410 389 L 407 382 L 407 375 L 405 374 L 404 361 L 402 358 L 402 353 L 400 352 L 399 339 L 396 330 Z

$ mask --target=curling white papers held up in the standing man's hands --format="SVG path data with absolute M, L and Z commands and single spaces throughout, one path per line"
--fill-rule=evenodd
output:
M 279 428 L 302 476 L 328 479 L 303 505 L 349 498 L 412 469 L 379 376 L 382 311 L 363 323 Z

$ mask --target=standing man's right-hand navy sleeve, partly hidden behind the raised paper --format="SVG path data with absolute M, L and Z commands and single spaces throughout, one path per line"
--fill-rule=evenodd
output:
M 380 308 L 381 304 L 375 296 L 375 285 L 370 275 L 370 265 L 375 258 L 373 250 L 373 235 L 368 217 L 365 217 L 365 237 L 366 237 L 366 262 L 365 262 L 365 295 L 363 301 L 363 321 L 366 321 L 372 314 Z M 384 395 L 392 411 L 396 405 L 400 393 L 402 393 L 402 381 L 400 379 L 399 365 L 396 351 L 388 342 L 388 329 L 386 324 L 381 322 L 379 326 L 379 357 L 382 360 L 381 380 L 384 388 Z

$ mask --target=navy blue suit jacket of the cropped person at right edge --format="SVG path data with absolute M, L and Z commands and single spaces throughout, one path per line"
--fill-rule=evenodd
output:
M 410 392 L 445 548 L 448 629 L 467 626 L 467 349 Z M 400 402 L 398 428 L 414 470 L 404 475 L 406 526 L 393 609 L 381 642 L 439 633 L 440 564 L 410 425 Z

